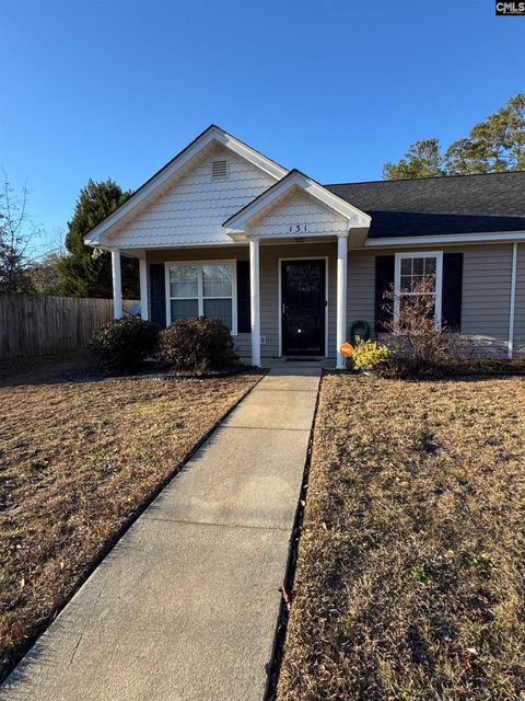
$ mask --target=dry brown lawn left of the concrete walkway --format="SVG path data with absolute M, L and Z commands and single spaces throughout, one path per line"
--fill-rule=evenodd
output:
M 0 677 L 259 377 L 79 383 L 49 361 L 3 369 Z

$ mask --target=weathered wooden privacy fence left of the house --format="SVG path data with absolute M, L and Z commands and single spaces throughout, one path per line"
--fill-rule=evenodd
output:
M 136 300 L 126 300 L 129 309 Z M 0 359 L 85 348 L 113 319 L 113 299 L 0 295 Z

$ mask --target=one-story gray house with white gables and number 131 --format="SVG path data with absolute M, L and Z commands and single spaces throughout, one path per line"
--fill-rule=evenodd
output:
M 525 354 L 525 172 L 320 185 L 210 126 L 85 238 L 140 261 L 141 315 L 219 317 L 238 354 L 337 358 L 384 291 L 435 280 L 478 354 Z

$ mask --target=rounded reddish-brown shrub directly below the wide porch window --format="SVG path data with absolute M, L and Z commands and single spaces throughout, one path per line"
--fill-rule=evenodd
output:
M 230 330 L 219 319 L 180 319 L 160 335 L 163 363 L 183 372 L 225 370 L 238 361 Z

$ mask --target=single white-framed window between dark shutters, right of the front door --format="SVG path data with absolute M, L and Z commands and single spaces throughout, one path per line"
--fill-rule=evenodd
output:
M 394 319 L 405 299 L 421 294 L 420 284 L 429 280 L 425 295 L 433 298 L 434 317 L 441 325 L 441 290 L 443 285 L 443 252 L 396 253 L 394 275 Z M 419 289 L 418 289 L 419 286 Z

